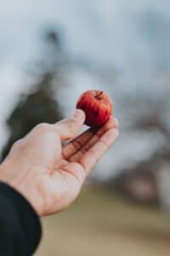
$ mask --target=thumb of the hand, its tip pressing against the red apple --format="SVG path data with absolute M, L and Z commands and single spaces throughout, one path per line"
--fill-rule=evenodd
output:
M 85 113 L 77 109 L 71 118 L 63 119 L 55 124 L 61 141 L 68 141 L 77 136 L 85 121 Z

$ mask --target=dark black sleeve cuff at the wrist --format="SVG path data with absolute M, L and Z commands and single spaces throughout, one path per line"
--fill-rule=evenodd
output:
M 20 195 L 0 183 L 0 255 L 30 256 L 41 239 L 37 213 Z

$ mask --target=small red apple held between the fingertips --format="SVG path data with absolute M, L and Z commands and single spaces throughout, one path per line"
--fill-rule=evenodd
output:
M 85 124 L 91 127 L 104 125 L 111 117 L 113 104 L 103 90 L 88 90 L 80 96 L 77 108 L 86 114 Z

